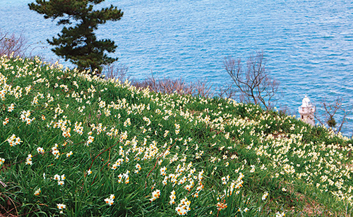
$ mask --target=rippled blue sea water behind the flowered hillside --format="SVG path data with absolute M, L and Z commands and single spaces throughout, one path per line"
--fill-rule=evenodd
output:
M 32 54 L 57 59 L 45 41 L 60 32 L 56 22 L 28 9 L 30 0 L 0 0 L 0 29 L 23 32 Z M 124 11 L 117 22 L 101 25 L 100 38 L 113 39 L 112 56 L 142 79 L 230 82 L 227 56 L 246 61 L 263 51 L 272 77 L 280 81 L 281 106 L 297 114 L 307 94 L 322 112 L 323 99 L 342 97 L 353 105 L 353 2 L 344 0 L 121 0 L 105 1 Z M 61 60 L 61 63 L 64 61 Z M 64 65 L 70 64 L 64 63 Z M 340 118 L 339 113 L 337 118 Z M 353 116 L 343 130 L 352 135 Z

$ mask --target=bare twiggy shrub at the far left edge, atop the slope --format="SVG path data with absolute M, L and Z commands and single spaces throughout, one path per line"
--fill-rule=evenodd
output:
M 28 49 L 28 41 L 25 37 L 15 33 L 0 31 L 0 56 L 25 56 L 25 51 Z

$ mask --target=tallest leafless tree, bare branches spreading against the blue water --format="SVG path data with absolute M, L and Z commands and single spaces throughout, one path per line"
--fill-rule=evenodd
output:
M 262 51 L 248 58 L 245 70 L 240 58 L 236 60 L 228 57 L 223 63 L 225 70 L 239 89 L 241 101 L 262 104 L 266 109 L 273 107 L 273 101 L 277 101 L 275 94 L 280 83 L 268 75 Z

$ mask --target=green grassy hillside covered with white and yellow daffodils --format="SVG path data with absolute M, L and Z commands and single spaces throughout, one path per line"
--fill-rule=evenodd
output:
M 325 128 L 252 104 L 155 94 L 38 58 L 3 56 L 0 73 L 5 216 L 352 212 L 352 140 Z

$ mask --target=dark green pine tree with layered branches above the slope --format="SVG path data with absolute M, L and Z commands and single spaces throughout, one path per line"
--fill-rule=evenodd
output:
M 57 25 L 64 25 L 59 37 L 53 37 L 47 42 L 56 46 L 52 51 L 61 56 L 65 61 L 78 66 L 80 70 L 98 70 L 102 65 L 113 63 L 118 58 L 112 58 L 107 53 L 112 53 L 116 45 L 110 39 L 97 40 L 94 30 L 98 24 L 108 20 L 120 20 L 123 12 L 116 6 L 109 6 L 100 10 L 93 7 L 104 0 L 36 0 L 28 4 L 30 10 L 44 14 L 44 18 L 59 18 Z

